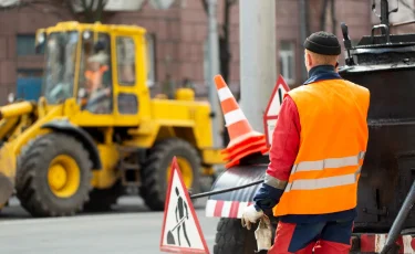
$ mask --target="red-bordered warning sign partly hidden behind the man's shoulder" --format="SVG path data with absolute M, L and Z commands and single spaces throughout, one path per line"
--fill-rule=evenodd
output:
M 263 128 L 266 131 L 267 144 L 271 146 L 273 129 L 276 128 L 278 114 L 281 109 L 281 104 L 290 87 L 287 85 L 282 75 L 278 77 L 277 84 L 273 87 L 270 100 L 268 102 L 266 114 L 263 115 Z

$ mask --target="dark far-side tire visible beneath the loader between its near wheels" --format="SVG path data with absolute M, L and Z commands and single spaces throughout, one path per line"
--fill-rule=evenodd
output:
M 111 205 L 115 204 L 123 194 L 123 187 L 120 181 L 108 189 L 93 189 L 90 192 L 90 200 L 84 204 L 85 212 L 111 211 Z

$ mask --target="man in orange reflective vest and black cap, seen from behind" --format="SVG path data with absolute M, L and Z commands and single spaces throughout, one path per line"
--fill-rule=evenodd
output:
M 370 92 L 338 74 L 335 35 L 313 33 L 304 47 L 309 80 L 284 96 L 266 179 L 242 223 L 279 218 L 270 254 L 349 253 Z

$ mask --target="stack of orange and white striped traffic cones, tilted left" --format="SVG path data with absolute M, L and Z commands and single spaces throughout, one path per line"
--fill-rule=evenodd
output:
M 266 136 L 252 129 L 222 76 L 216 75 L 214 80 L 230 138 L 228 147 L 221 152 L 228 154 L 226 160 L 230 159 L 229 165 L 235 166 L 245 156 L 258 151 L 266 152 L 268 150 Z

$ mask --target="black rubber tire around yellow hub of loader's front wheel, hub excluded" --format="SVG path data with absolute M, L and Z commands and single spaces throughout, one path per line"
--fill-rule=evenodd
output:
M 68 198 L 56 197 L 48 182 L 49 165 L 59 155 L 70 156 L 81 171 L 79 189 Z M 22 149 L 18 159 L 17 197 L 32 216 L 74 215 L 89 200 L 91 169 L 89 152 L 75 138 L 58 133 L 40 136 Z

